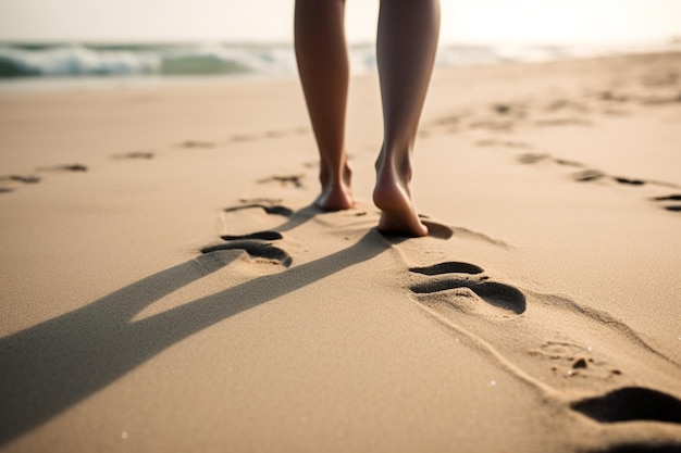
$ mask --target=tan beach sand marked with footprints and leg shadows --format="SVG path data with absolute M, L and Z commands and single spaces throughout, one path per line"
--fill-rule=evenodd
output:
M 681 451 L 681 54 L 439 70 L 384 237 L 296 80 L 0 98 L 0 449 Z M 222 239 L 224 236 L 225 239 Z

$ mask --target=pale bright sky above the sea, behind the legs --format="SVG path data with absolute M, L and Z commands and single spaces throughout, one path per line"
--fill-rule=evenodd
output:
M 0 40 L 289 41 L 294 0 L 0 0 Z M 347 0 L 371 41 L 379 0 Z M 442 41 L 635 42 L 681 37 L 681 0 L 442 0 Z

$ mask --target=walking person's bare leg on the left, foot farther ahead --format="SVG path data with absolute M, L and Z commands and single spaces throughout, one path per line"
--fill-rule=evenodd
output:
M 332 211 L 355 204 L 345 151 L 349 63 L 344 13 L 345 0 L 296 0 L 296 59 L 320 155 L 322 192 L 315 204 Z

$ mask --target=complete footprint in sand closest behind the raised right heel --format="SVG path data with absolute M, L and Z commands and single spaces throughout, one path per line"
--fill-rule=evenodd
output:
M 411 292 L 431 310 L 455 310 L 493 317 L 511 317 L 525 311 L 525 297 L 518 289 L 491 281 L 484 270 L 469 263 L 445 262 L 412 267 L 412 274 L 425 275 L 424 282 L 411 286 Z

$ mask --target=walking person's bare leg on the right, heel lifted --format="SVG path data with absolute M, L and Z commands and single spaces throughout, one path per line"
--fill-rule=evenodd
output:
M 411 201 L 411 154 L 430 84 L 439 32 L 438 0 L 382 0 L 377 62 L 383 102 L 383 148 L 373 201 L 379 230 L 419 237 L 428 228 Z

